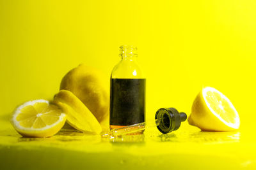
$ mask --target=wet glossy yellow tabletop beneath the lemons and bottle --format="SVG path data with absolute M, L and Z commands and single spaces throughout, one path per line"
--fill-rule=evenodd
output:
M 51 138 L 22 138 L 0 120 L 1 169 L 255 169 L 255 137 L 246 131 L 202 132 L 188 122 L 170 134 L 102 139 L 62 129 Z

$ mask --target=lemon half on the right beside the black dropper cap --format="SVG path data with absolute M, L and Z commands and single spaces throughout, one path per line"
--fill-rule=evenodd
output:
M 240 125 L 236 108 L 212 87 L 205 87 L 196 96 L 188 122 L 202 131 L 234 131 Z

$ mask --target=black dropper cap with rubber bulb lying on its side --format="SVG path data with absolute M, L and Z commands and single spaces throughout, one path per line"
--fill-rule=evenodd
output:
M 180 123 L 187 119 L 186 113 L 177 111 L 175 108 L 161 108 L 157 110 L 155 118 L 159 120 L 157 129 L 163 134 L 176 131 Z

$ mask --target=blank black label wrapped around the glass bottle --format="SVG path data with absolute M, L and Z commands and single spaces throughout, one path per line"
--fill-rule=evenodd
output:
M 111 78 L 110 126 L 145 122 L 145 79 Z

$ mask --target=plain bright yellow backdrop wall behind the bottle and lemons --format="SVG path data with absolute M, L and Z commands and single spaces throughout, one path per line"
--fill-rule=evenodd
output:
M 256 1 L 0 1 L 0 114 L 52 99 L 85 63 L 110 76 L 118 47 L 138 46 L 147 117 L 190 113 L 204 86 L 234 104 L 241 128 L 255 116 Z M 109 85 L 109 82 L 106 82 Z

